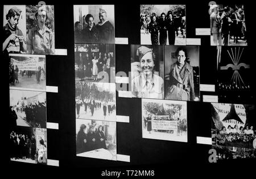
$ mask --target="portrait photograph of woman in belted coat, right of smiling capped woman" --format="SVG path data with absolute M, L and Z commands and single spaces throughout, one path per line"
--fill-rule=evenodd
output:
M 165 99 L 200 101 L 199 46 L 164 46 Z

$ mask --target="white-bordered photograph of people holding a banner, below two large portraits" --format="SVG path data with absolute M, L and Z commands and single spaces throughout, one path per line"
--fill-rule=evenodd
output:
M 142 138 L 187 142 L 187 102 L 142 99 Z

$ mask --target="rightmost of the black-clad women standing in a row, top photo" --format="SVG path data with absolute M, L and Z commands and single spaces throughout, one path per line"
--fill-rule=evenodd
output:
M 167 31 L 168 31 L 168 41 L 169 45 L 175 44 L 175 24 L 174 18 L 172 16 L 172 11 L 168 11 L 167 13 Z

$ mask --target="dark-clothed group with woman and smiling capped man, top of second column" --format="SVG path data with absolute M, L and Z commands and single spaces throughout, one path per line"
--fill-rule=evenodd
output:
M 83 16 L 85 24 L 75 22 L 75 42 L 79 43 L 114 43 L 114 26 L 107 19 L 107 13 L 100 8 L 99 20 L 94 22 L 94 16 L 87 14 Z

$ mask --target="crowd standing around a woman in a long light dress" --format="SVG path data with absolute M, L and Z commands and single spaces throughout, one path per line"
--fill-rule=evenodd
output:
M 84 56 L 85 54 L 85 56 Z M 112 53 L 101 52 L 94 53 L 79 53 L 79 59 L 76 61 L 77 64 L 77 77 L 81 81 L 93 80 L 98 81 L 104 78 L 104 75 L 99 76 L 99 72 L 108 73 L 108 80 L 110 78 L 111 67 L 114 66 L 114 58 Z

